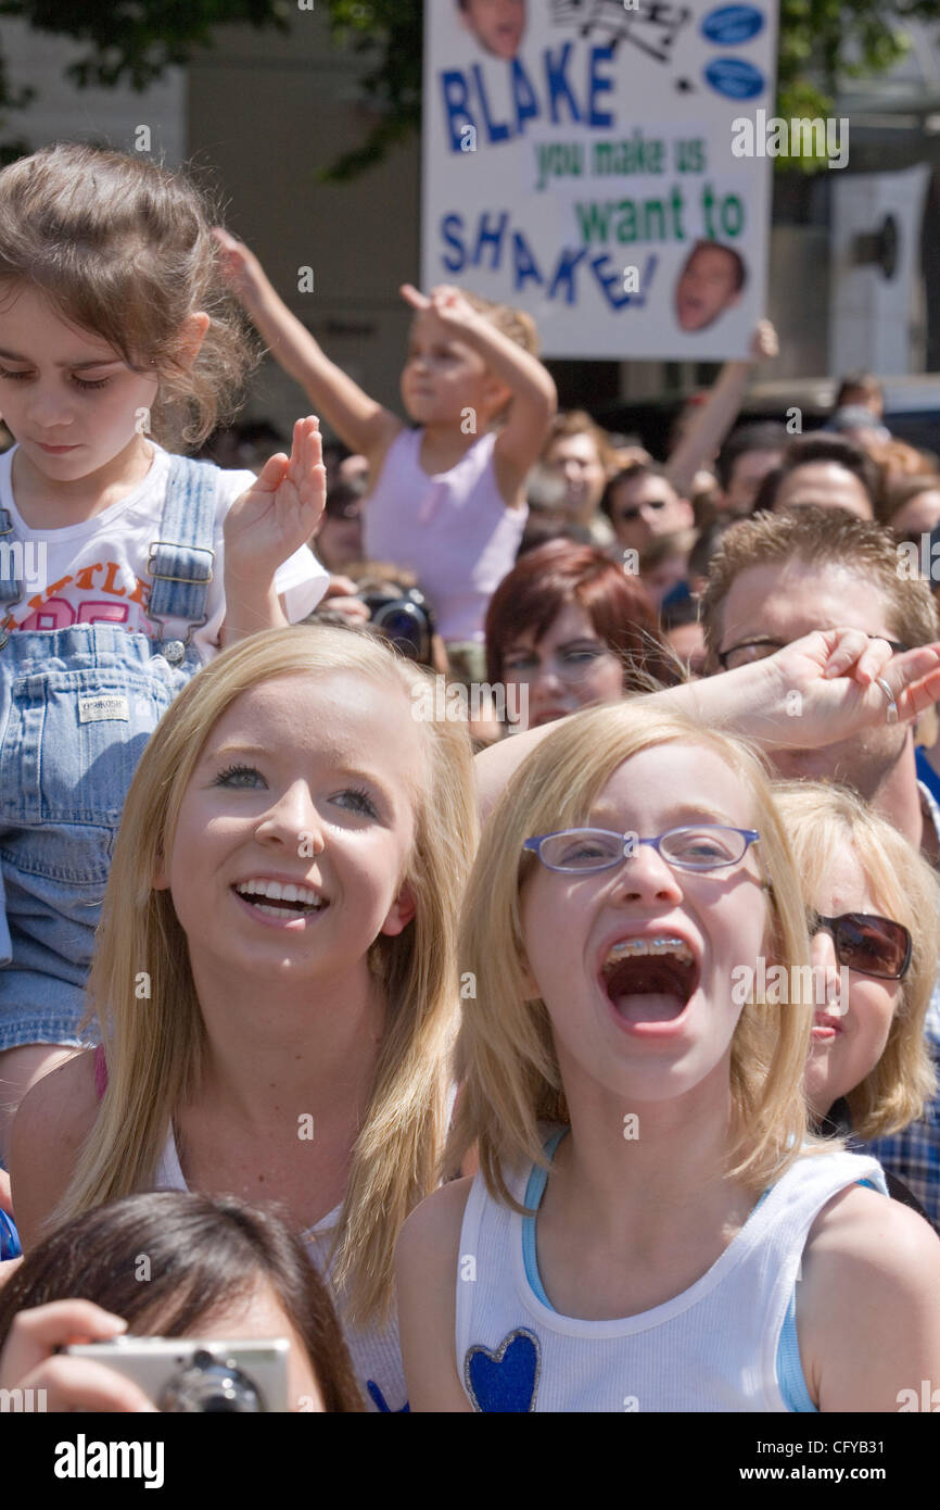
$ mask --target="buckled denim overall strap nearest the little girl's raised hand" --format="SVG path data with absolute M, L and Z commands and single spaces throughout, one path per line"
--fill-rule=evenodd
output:
M 205 598 L 213 580 L 216 476 L 208 462 L 174 456 L 160 518 L 160 539 L 151 542 L 146 569 L 152 577 L 146 616 L 160 625 L 163 652 L 183 660 L 193 630 L 205 624 Z M 183 621 L 186 640 L 170 639 L 167 621 Z

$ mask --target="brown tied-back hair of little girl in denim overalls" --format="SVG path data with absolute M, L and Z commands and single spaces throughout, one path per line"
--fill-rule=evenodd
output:
M 217 219 L 183 172 L 137 153 L 60 142 L 0 172 L 0 299 L 32 287 L 158 378 L 151 430 L 161 444 L 199 445 L 225 423 L 258 350 L 222 279 Z M 195 311 L 210 326 L 190 361 Z

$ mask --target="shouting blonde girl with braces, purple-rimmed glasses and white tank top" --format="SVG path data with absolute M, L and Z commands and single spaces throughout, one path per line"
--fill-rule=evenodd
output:
M 462 944 L 448 1166 L 477 1143 L 480 1173 L 398 1241 L 413 1410 L 887 1412 L 937 1377 L 935 1235 L 807 1125 L 812 1006 L 732 991 L 809 963 L 744 746 L 635 704 L 554 729 Z

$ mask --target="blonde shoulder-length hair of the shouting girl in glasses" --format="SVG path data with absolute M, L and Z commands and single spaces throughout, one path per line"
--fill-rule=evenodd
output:
M 457 1063 L 463 1090 L 447 1167 L 457 1167 L 477 1142 L 487 1190 L 515 1210 L 522 1208 L 510 1196 L 504 1169 L 545 1166 L 539 1123 L 567 1122 L 549 1015 L 542 1000 L 527 1000 L 519 898 L 539 859 L 522 844 L 533 834 L 587 821 L 623 761 L 659 744 L 714 750 L 736 775 L 741 818 L 760 834 L 756 856 L 771 888 L 765 892 L 765 956 L 785 966 L 809 963 L 800 880 L 756 753 L 641 702 L 611 704 L 561 723 L 524 761 L 489 817 L 460 938 L 460 969 L 474 972 L 477 994 L 462 1003 Z M 801 1146 L 813 1152 L 824 1146 L 807 1131 L 803 1098 L 810 1028 L 812 1006 L 782 1012 L 753 1000 L 735 1028 L 727 1173 L 754 1190 L 779 1178 Z

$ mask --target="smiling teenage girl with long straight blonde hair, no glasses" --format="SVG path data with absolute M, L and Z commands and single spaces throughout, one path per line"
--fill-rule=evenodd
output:
M 456 918 L 474 843 L 459 723 L 352 630 L 226 651 L 148 743 L 118 835 L 92 1052 L 14 1129 L 24 1247 L 149 1187 L 275 1202 L 333 1280 L 373 1409 L 406 1404 L 401 1222 L 448 1114 Z

